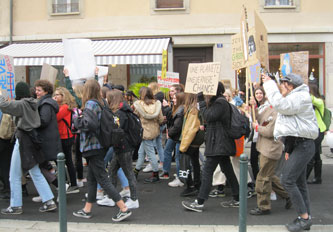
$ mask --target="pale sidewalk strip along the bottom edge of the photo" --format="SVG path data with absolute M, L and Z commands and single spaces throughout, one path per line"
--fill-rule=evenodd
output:
M 192 226 L 192 225 L 139 225 L 108 223 L 73 223 L 67 224 L 68 232 L 238 232 L 237 226 Z M 0 232 L 56 232 L 59 223 L 24 220 L 1 220 Z M 248 232 L 287 231 L 284 226 L 248 226 Z M 312 232 L 332 232 L 333 225 L 313 225 Z

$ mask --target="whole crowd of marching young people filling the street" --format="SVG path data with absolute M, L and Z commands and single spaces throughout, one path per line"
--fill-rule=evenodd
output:
M 306 85 L 293 73 L 280 80 L 263 74 L 261 83 L 251 86 L 250 99 L 225 89 L 222 82 L 214 96 L 184 93 L 182 84 L 165 94 L 155 82 L 135 96 L 123 86 L 110 85 L 107 78 L 103 86 L 95 79 L 72 86 L 68 70 L 64 74 L 65 87 L 54 89 L 47 80 L 36 81 L 33 88 L 19 82 L 15 100 L 0 95 L 1 197 L 10 199 L 2 214 L 23 213 L 27 177 L 39 194 L 32 199 L 42 203 L 39 211 L 57 209 L 51 186 L 58 188 L 60 152 L 68 170 L 66 193 L 78 193 L 84 185 L 88 189 L 85 205 L 73 212 L 77 217 L 91 218 L 97 202 L 116 205 L 119 213 L 112 220 L 122 221 L 139 208 L 138 183 L 171 176 L 170 187 L 183 188 L 181 197 L 194 197 L 181 202 L 186 210 L 203 212 L 209 197 L 225 196 L 227 185 L 232 199 L 221 206 L 239 207 L 239 156 L 250 142 L 248 198 L 256 196 L 257 207 L 249 213 L 270 214 L 277 195 L 286 209 L 297 211 L 287 229 L 310 229 L 307 184 L 322 183 L 321 142 L 329 129 L 322 120 L 325 104 L 316 84 Z M 232 135 L 235 109 L 247 121 L 241 126 L 248 127 L 237 137 Z M 109 143 L 103 138 L 107 128 L 112 129 Z M 85 173 L 82 160 L 88 165 Z M 142 180 L 141 172 L 152 175 Z

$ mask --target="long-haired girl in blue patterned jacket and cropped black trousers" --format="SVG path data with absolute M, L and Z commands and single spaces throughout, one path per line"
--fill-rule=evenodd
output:
M 97 183 L 99 183 L 120 208 L 119 213 L 112 217 L 113 221 L 119 222 L 131 216 L 132 212 L 121 199 L 105 170 L 104 156 L 106 148 L 101 145 L 97 138 L 100 132 L 101 115 L 104 110 L 100 107 L 100 104 L 104 104 L 100 92 L 101 88 L 96 80 L 90 79 L 85 83 L 82 98 L 82 105 L 84 106 L 82 116 L 74 120 L 75 127 L 81 130 L 80 150 L 82 156 L 88 160 L 89 166 L 88 199 L 84 208 L 73 212 L 73 215 L 82 218 L 92 217 L 92 206 L 96 201 Z

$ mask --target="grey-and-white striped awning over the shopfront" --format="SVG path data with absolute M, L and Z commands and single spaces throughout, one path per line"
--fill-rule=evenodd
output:
M 97 65 L 161 64 L 162 51 L 170 38 L 95 40 L 92 47 Z M 0 49 L 14 57 L 15 66 L 64 65 L 62 42 L 16 43 Z

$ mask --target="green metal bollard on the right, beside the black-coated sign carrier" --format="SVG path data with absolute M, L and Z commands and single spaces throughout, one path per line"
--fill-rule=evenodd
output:
M 240 156 L 240 176 L 239 176 L 239 232 L 246 232 L 246 214 L 247 214 L 247 165 L 248 158 L 246 154 Z

